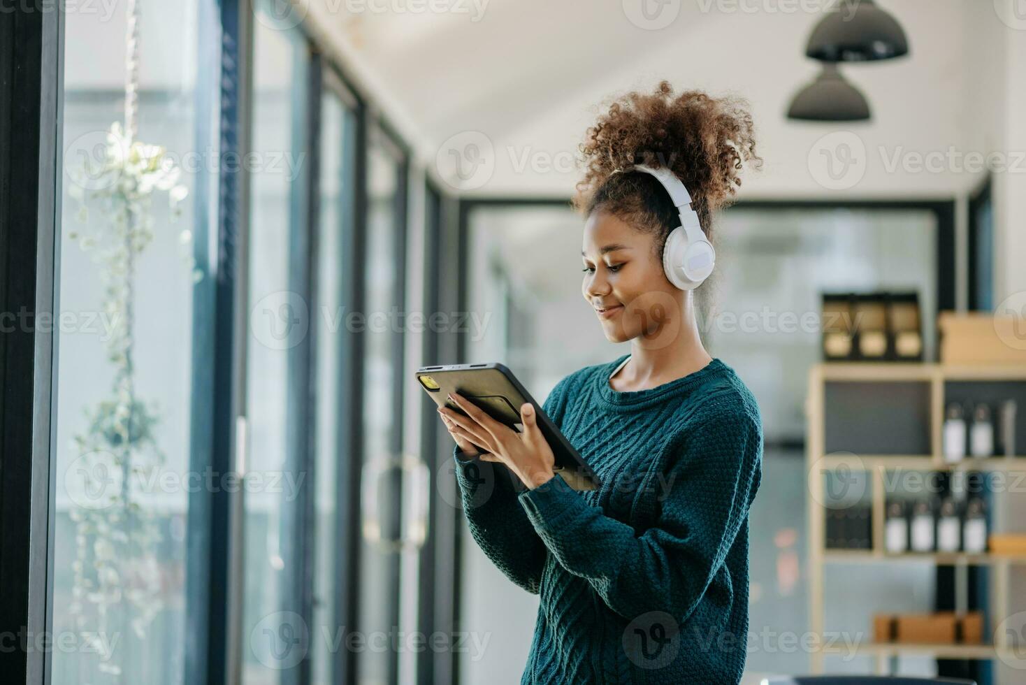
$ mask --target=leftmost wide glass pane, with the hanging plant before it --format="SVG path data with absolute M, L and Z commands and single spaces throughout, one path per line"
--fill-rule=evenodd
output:
M 218 83 L 197 58 L 204 2 L 108 9 L 64 17 L 52 682 L 177 685 Z

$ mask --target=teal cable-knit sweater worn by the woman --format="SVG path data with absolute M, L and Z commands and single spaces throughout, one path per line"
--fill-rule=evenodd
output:
M 528 490 L 453 449 L 470 531 L 541 606 L 521 683 L 738 683 L 748 638 L 748 512 L 762 422 L 718 358 L 618 392 L 627 357 L 561 379 L 545 412 L 598 474 Z

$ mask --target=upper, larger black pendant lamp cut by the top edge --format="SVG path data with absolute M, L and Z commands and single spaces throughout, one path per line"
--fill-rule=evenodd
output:
M 838 0 L 813 30 L 805 55 L 821 62 L 868 62 L 908 54 L 901 25 L 873 0 Z

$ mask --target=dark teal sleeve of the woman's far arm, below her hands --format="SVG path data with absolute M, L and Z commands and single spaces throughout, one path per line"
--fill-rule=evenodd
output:
M 565 378 L 542 405 L 556 426 L 562 422 L 564 388 Z M 525 488 L 505 466 L 463 457 L 459 446 L 452 458 L 471 535 L 510 580 L 537 595 L 548 551 L 517 499 Z

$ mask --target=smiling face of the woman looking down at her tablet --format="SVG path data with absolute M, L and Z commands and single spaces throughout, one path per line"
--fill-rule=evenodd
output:
M 611 342 L 652 337 L 680 319 L 683 292 L 663 273 L 655 241 L 653 232 L 605 211 L 593 212 L 585 224 L 581 292 L 593 309 L 605 310 L 595 315 Z

